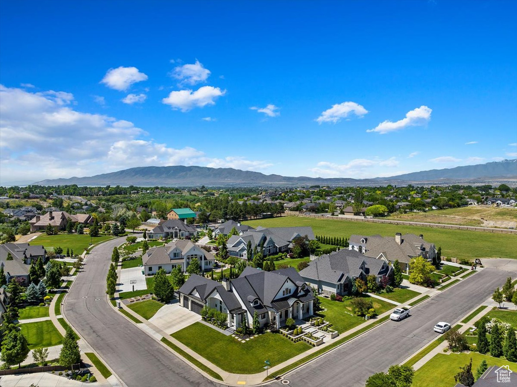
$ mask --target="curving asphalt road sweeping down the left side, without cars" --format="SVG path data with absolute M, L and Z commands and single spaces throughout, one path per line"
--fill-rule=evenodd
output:
M 63 314 L 129 387 L 218 386 L 114 311 L 105 280 L 118 238 L 95 247 L 65 298 Z

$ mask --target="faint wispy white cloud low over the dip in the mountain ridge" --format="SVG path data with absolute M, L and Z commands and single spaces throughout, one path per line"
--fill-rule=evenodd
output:
M 379 167 L 397 167 L 399 161 L 391 157 L 386 160 L 382 159 L 354 159 L 347 164 L 329 163 L 321 161 L 317 166 L 309 169 L 318 177 L 352 177 L 352 178 L 370 178 L 381 174 Z M 392 173 L 384 172 L 386 176 Z

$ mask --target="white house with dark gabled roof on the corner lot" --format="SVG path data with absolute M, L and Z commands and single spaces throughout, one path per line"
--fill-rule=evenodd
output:
M 201 313 L 208 305 L 227 313 L 233 330 L 245 321 L 252 327 L 255 312 L 261 326 L 277 329 L 288 318 L 301 320 L 313 314 L 312 290 L 294 268 L 262 271 L 248 266 L 238 278 L 222 284 L 191 275 L 178 293 L 179 304 L 190 311 Z

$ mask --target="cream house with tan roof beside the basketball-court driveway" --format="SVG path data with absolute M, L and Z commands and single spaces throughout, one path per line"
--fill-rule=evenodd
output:
M 214 267 L 215 258 L 211 253 L 187 239 L 179 239 L 162 247 L 151 247 L 142 256 L 142 264 L 145 275 L 154 275 L 160 269 L 170 273 L 176 266 L 185 271 L 190 261 L 196 258 L 202 272 Z

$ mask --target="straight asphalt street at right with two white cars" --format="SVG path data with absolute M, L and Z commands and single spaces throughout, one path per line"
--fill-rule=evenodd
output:
M 412 315 L 405 320 L 381 324 L 284 379 L 293 387 L 364 386 L 370 375 L 387 371 L 438 336 L 433 331 L 438 321 L 458 322 L 488 299 L 496 287 L 503 286 L 509 275 L 515 278 L 515 272 L 484 269 L 412 308 Z

